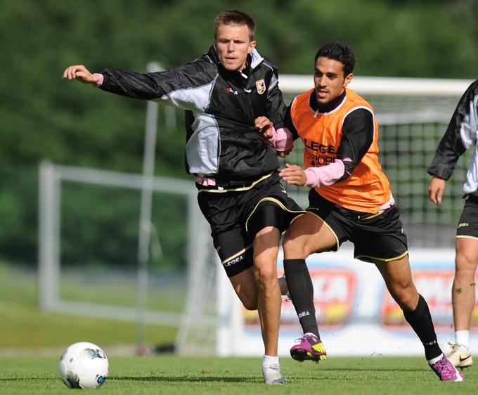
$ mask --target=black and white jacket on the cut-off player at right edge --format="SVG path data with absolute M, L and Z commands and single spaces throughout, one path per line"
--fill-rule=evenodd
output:
M 437 148 L 427 171 L 432 176 L 448 180 L 458 158 L 474 145 L 474 152 L 463 184 L 465 195 L 478 196 L 478 79 L 460 98 L 448 129 Z

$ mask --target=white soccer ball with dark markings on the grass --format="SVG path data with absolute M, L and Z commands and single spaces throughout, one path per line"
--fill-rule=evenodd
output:
M 108 358 L 96 344 L 79 342 L 68 347 L 60 358 L 60 377 L 70 388 L 100 387 L 108 377 Z

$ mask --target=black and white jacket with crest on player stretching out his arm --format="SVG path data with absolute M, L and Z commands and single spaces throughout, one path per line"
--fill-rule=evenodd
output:
M 212 46 L 202 57 L 164 72 L 105 69 L 101 89 L 186 110 L 186 171 L 221 181 L 252 181 L 277 169 L 276 151 L 259 138 L 254 119 L 283 127 L 286 105 L 270 60 L 254 49 L 243 72 L 219 63 Z

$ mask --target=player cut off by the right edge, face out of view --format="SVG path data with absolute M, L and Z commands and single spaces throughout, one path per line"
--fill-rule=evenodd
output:
M 451 290 L 455 341 L 450 342 L 448 359 L 458 368 L 470 368 L 470 324 L 476 298 L 475 273 L 478 264 L 478 79 L 460 98 L 448 128 L 438 145 L 427 171 L 432 176 L 428 197 L 440 205 L 445 183 L 451 177 L 458 158 L 471 146 L 470 160 L 463 198 L 465 207 L 456 228 L 455 278 Z

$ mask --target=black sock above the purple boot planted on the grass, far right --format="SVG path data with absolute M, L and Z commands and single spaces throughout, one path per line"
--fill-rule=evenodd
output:
M 403 316 L 405 316 L 407 322 L 415 330 L 423 347 L 425 347 L 425 358 L 427 360 L 437 358 L 442 351 L 438 345 L 437 334 L 433 328 L 432 315 L 422 295 L 419 295 L 417 308 L 413 311 L 403 310 Z

